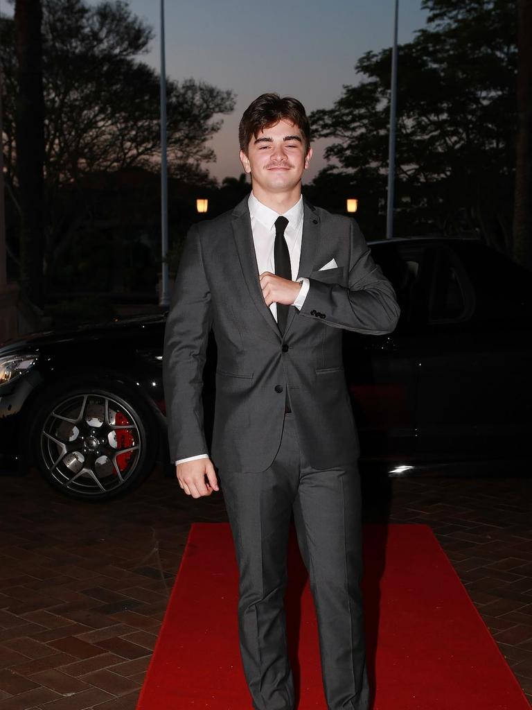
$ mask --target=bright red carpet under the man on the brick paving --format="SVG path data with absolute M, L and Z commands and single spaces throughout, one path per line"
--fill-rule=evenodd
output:
M 298 708 L 326 710 L 314 607 L 295 543 L 290 554 Z M 365 526 L 364 559 L 373 710 L 529 710 L 428 526 Z M 137 710 L 250 710 L 237 584 L 228 525 L 193 525 Z

